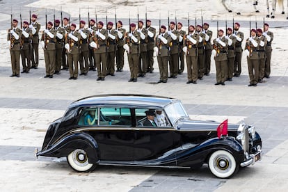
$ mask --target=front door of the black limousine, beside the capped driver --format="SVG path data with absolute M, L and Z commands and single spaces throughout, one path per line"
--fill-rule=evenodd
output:
M 136 120 L 143 121 L 147 110 L 151 109 L 135 109 Z M 170 125 L 166 127 L 148 127 L 141 122 L 137 122 L 134 138 L 135 160 L 152 160 L 158 165 L 173 161 L 173 164 L 175 164 L 174 155 L 170 157 L 164 155 L 174 149 L 174 134 L 175 129 Z

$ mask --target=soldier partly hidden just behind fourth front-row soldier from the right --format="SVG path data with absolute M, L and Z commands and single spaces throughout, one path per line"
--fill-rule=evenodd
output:
M 172 41 L 170 42 L 170 58 L 169 58 L 169 69 L 170 69 L 170 77 L 169 78 L 177 78 L 178 74 L 178 52 L 179 52 L 179 32 L 175 30 L 175 22 L 170 22 L 170 31 L 168 31 L 168 35 L 171 36 Z

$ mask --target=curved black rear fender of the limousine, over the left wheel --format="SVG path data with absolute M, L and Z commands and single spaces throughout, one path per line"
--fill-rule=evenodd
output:
M 36 154 L 45 157 L 67 157 L 76 149 L 85 150 L 89 157 L 89 163 L 99 160 L 99 147 L 95 139 L 86 133 L 70 134 Z

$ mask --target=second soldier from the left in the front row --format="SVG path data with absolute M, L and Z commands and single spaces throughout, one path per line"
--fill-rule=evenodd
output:
M 52 29 L 53 23 L 47 23 L 47 29 L 43 31 L 41 45 L 44 49 L 46 75 L 44 78 L 53 78 L 56 55 L 56 31 Z

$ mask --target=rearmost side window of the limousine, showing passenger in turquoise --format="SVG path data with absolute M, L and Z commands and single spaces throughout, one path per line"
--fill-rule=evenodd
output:
M 97 108 L 83 109 L 80 114 L 78 125 L 81 125 L 81 126 L 97 125 L 97 120 L 98 120 Z

